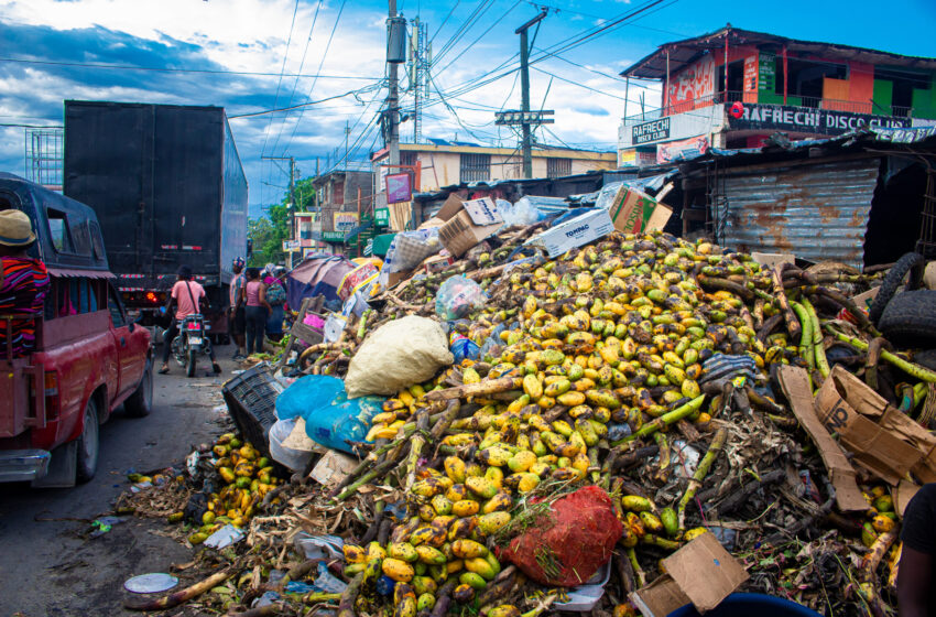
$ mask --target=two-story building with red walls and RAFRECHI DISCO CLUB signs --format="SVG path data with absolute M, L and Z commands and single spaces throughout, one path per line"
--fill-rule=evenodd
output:
M 667 163 L 709 148 L 753 148 L 861 126 L 936 125 L 936 58 L 732 28 L 661 45 L 621 73 L 661 85 L 660 108 L 625 107 L 619 166 Z M 625 104 L 627 106 L 627 104 Z

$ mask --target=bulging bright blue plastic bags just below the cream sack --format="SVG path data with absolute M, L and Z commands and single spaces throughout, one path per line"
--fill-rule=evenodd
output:
M 302 416 L 305 432 L 316 443 L 353 454 L 348 442 L 361 442 L 371 419 L 383 411 L 383 397 L 348 400 L 345 382 L 328 375 L 307 375 L 276 398 L 276 415 Z

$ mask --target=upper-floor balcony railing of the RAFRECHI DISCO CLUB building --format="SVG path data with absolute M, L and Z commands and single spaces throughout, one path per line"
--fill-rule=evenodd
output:
M 649 109 L 646 111 L 642 111 L 633 116 L 628 116 L 623 119 L 623 122 L 625 127 L 630 127 L 633 125 L 640 125 L 642 122 L 649 122 L 651 120 L 659 120 L 660 118 L 664 118 L 666 116 L 685 113 L 686 111 L 692 111 L 694 109 L 711 107 L 712 105 L 721 105 L 725 102 L 734 102 L 738 100 L 742 102 L 753 104 L 757 102 L 757 93 L 741 93 L 736 90 L 728 90 L 727 93 L 715 93 L 712 95 L 675 102 L 663 108 Z M 871 101 L 860 102 L 853 100 L 837 100 L 823 97 L 803 97 L 794 95 L 787 95 L 786 100 L 786 105 L 791 107 L 808 107 L 812 109 L 829 109 L 835 111 L 846 111 L 849 113 L 868 113 L 872 116 L 890 116 L 896 118 L 913 117 L 912 107 L 901 107 L 896 105 L 890 107 L 882 107 Z M 762 102 L 762 105 L 783 104 Z

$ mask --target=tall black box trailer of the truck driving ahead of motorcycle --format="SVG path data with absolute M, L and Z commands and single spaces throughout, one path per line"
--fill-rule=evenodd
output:
M 64 193 L 94 208 L 128 310 L 145 326 L 179 266 L 224 343 L 232 261 L 247 258 L 247 178 L 221 107 L 65 101 Z

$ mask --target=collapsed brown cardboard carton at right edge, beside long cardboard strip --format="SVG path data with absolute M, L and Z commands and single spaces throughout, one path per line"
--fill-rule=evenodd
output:
M 816 392 L 814 409 L 855 462 L 888 484 L 896 486 L 911 470 L 936 481 L 936 437 L 840 366 Z

